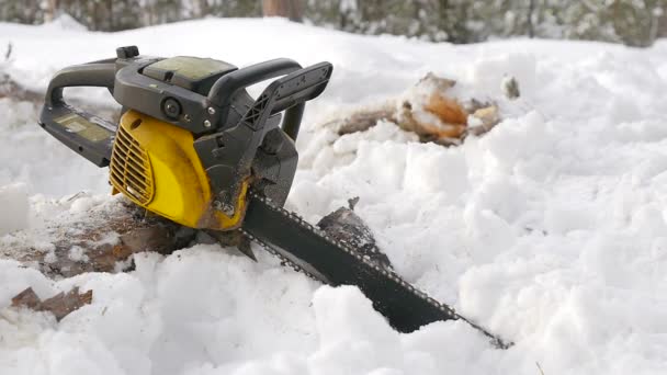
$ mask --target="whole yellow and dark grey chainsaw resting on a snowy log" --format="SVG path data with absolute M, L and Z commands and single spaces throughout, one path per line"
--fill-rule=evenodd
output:
M 297 271 L 330 285 L 355 285 L 392 327 L 411 332 L 461 319 L 500 348 L 507 343 L 283 205 L 298 154 L 305 103 L 334 68 L 280 58 L 239 69 L 211 58 L 139 55 L 65 68 L 52 79 L 39 125 L 98 167 L 113 194 L 180 225 L 240 232 Z M 268 83 L 252 98 L 248 88 Z M 68 104 L 69 87 L 106 88 L 122 105 L 117 125 Z

